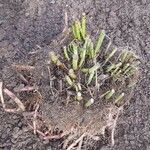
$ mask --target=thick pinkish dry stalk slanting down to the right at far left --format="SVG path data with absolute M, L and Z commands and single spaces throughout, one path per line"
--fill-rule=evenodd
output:
M 25 107 L 23 105 L 23 103 L 19 100 L 19 98 L 16 97 L 16 95 L 14 93 L 12 93 L 11 91 L 9 91 L 8 89 L 4 89 L 4 92 L 14 100 L 14 102 L 18 105 L 18 107 L 22 110 L 25 111 Z

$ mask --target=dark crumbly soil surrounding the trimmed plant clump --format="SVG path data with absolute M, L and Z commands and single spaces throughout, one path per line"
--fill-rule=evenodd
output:
M 119 118 L 115 146 L 110 148 L 107 141 L 97 142 L 90 149 L 149 150 L 149 0 L 0 0 L 0 80 L 13 90 L 18 80 L 9 69 L 11 64 L 28 64 L 29 61 L 32 62 L 30 65 L 38 65 L 45 61 L 43 58 L 47 58 L 48 45 L 53 39 L 57 41 L 63 31 L 65 12 L 69 20 L 85 12 L 92 35 L 105 29 L 115 45 L 129 47 L 141 59 L 140 81 L 130 105 L 125 107 Z M 32 52 L 37 52 L 38 57 L 31 55 Z M 21 115 L 5 113 L 2 107 L 0 122 L 0 149 L 60 149 L 62 141 L 40 140 L 33 135 Z

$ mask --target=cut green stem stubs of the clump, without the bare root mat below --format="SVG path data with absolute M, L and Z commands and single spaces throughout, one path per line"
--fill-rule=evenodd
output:
M 71 29 L 72 40 L 63 47 L 63 55 L 49 53 L 52 64 L 62 72 L 63 88 L 73 92 L 72 99 L 83 108 L 95 101 L 123 105 L 137 82 L 137 56 L 128 50 L 111 49 L 111 41 L 103 48 L 107 39 L 104 30 L 93 41 L 86 31 L 85 15 Z

